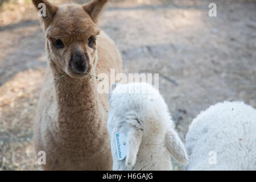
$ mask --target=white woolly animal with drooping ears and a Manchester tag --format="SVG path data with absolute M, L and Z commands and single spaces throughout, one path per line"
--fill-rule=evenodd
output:
M 170 154 L 187 163 L 187 153 L 158 90 L 147 83 L 115 84 L 109 104 L 113 170 L 171 170 Z M 124 137 L 116 139 L 117 133 Z M 116 140 L 126 153 L 122 160 L 118 160 Z

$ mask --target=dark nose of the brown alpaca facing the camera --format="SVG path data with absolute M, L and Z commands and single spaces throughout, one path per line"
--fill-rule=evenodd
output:
M 72 54 L 70 64 L 73 72 L 76 73 L 84 73 L 88 69 L 88 60 L 82 51 L 75 51 Z

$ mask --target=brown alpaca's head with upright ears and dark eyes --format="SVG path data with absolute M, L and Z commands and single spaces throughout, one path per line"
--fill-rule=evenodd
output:
M 47 0 L 32 0 L 43 15 L 48 59 L 59 72 L 81 78 L 96 66 L 97 35 L 100 34 L 96 23 L 107 1 L 55 6 Z

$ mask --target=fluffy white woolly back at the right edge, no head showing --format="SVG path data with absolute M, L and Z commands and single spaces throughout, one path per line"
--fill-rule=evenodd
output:
M 187 170 L 256 170 L 256 110 L 222 102 L 201 112 L 189 127 Z

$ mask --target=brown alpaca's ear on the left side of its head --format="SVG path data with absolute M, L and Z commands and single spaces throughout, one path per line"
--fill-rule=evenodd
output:
M 47 0 L 32 0 L 32 2 L 45 23 L 49 23 L 58 10 L 57 6 L 52 5 Z

